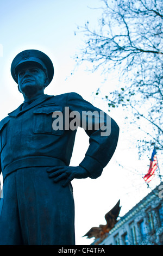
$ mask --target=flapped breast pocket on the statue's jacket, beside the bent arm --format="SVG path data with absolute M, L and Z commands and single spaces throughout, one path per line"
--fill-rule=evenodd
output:
M 34 133 L 43 133 L 43 134 L 53 134 L 53 135 L 62 135 L 64 132 L 63 129 L 53 129 L 53 121 L 54 121 L 54 113 L 55 117 L 59 115 L 60 117 L 63 117 L 62 115 L 62 107 L 61 106 L 46 106 L 46 107 L 40 107 L 36 108 L 33 111 L 33 132 Z M 61 127 L 62 128 L 62 127 Z

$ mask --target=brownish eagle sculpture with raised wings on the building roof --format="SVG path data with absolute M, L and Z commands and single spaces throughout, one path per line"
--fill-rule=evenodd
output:
M 101 243 L 109 233 L 109 231 L 114 228 L 115 224 L 117 223 L 117 217 L 120 214 L 120 200 L 116 203 L 114 208 L 112 208 L 107 214 L 105 214 L 105 225 L 99 225 L 99 227 L 91 228 L 84 236 L 87 236 L 87 238 L 95 237 L 95 239 L 99 240 L 95 242 L 95 245 L 98 245 Z

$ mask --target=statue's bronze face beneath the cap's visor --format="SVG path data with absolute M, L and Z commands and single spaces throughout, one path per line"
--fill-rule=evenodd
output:
M 18 89 L 23 95 L 34 95 L 48 84 L 45 72 L 36 65 L 26 66 L 18 71 Z

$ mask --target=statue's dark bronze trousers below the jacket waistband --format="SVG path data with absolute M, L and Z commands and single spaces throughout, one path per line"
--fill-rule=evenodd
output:
M 22 168 L 5 178 L 0 245 L 75 245 L 72 185 L 54 183 L 46 169 Z

